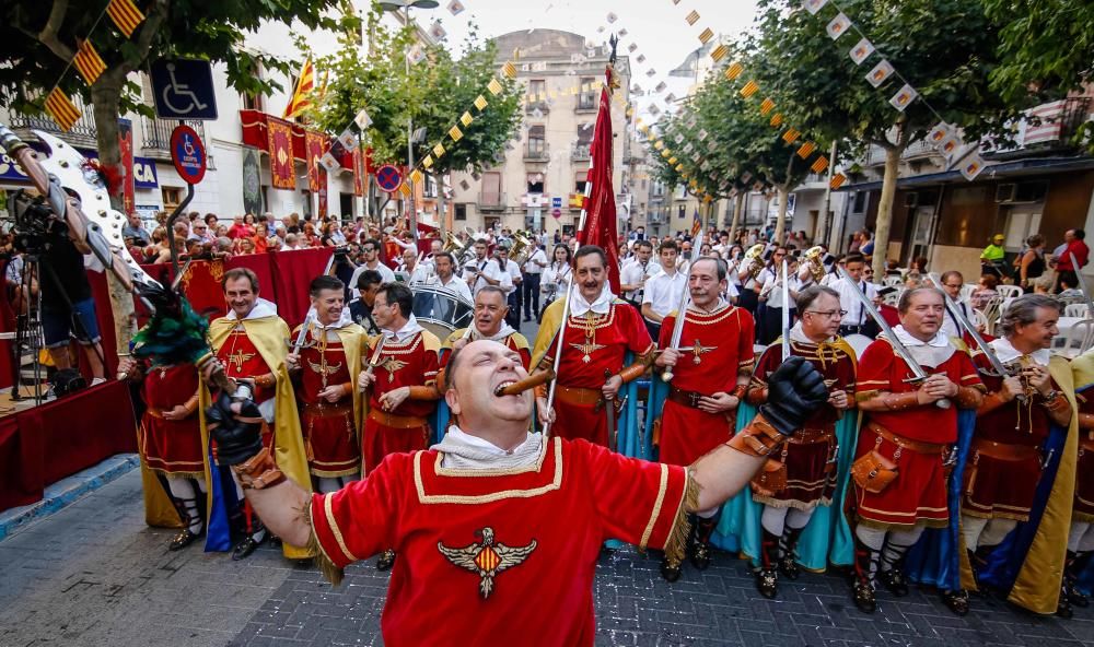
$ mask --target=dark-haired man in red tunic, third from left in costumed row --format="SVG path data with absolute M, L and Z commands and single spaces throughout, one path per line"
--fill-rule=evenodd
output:
M 361 372 L 364 329 L 353 324 L 345 307 L 346 287 L 334 277 L 317 277 L 309 287 L 314 319 L 300 349 L 286 357 L 296 374 L 300 427 L 307 468 L 318 492 L 335 492 L 361 475 L 361 397 L 356 388 Z

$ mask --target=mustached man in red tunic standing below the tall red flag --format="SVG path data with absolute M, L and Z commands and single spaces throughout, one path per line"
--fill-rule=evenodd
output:
M 647 372 L 653 361 L 653 340 L 633 306 L 612 294 L 607 282 L 607 256 L 595 245 L 573 255 L 570 316 L 562 340 L 562 358 L 555 387 L 555 410 L 547 408 L 545 391 L 536 398 L 544 424 L 558 417 L 558 433 L 608 446 L 606 407 L 615 407 L 619 388 Z M 558 331 L 566 299 L 544 310 L 543 324 L 532 352 L 536 372 L 549 370 L 558 352 Z M 625 366 L 630 351 L 636 362 Z

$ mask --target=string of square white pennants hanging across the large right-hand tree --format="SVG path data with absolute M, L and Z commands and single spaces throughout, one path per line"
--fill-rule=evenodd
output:
M 980 175 L 984 170 L 984 158 L 979 154 L 979 144 L 975 144 L 971 148 L 966 149 L 965 142 L 962 140 L 961 136 L 956 132 L 956 129 L 946 123 L 946 120 L 942 115 L 934 109 L 934 106 L 923 97 L 907 79 L 889 62 L 889 60 L 877 50 L 874 44 L 870 40 L 865 33 L 859 28 L 859 26 L 848 17 L 843 9 L 836 2 L 836 0 L 803 0 L 802 9 L 807 11 L 811 15 L 819 16 L 821 11 L 827 7 L 831 5 L 836 10 L 836 15 L 828 21 L 825 26 L 825 31 L 828 33 L 828 37 L 833 40 L 839 40 L 839 38 L 853 31 L 858 36 L 859 40 L 854 44 L 854 47 L 848 51 L 848 57 L 856 66 L 861 66 L 872 56 L 876 55 L 880 59 L 876 64 L 865 74 L 865 80 L 875 89 L 880 89 L 884 85 L 889 78 L 895 78 L 903 82 L 903 85 L 897 90 L 889 98 L 889 104 L 899 111 L 907 109 L 916 101 L 921 101 L 927 109 L 929 109 L 938 119 L 938 125 L 931 129 L 930 133 L 927 136 L 927 141 L 934 146 L 946 161 L 951 164 L 959 162 L 961 174 L 965 179 L 971 181 L 976 179 L 976 176 Z M 964 149 L 964 152 L 958 154 Z

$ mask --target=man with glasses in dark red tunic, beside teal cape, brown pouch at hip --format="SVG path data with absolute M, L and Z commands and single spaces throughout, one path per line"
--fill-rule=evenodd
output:
M 838 337 L 842 317 L 839 293 L 814 285 L 799 293 L 796 307 L 801 320 L 790 329 L 790 354 L 804 357 L 824 376 L 828 401 L 782 446 L 781 464 L 768 461 L 753 480 L 753 499 L 764 506 L 756 588 L 765 598 L 773 598 L 778 591 L 776 567 L 788 578 L 798 579 L 798 540 L 817 506 L 831 505 L 836 490 L 836 422 L 854 408 L 854 358 Z M 768 376 L 782 362 L 780 342 L 764 351 L 745 396 L 749 404 L 768 401 Z

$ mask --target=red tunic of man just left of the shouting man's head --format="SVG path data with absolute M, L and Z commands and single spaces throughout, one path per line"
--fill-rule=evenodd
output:
M 373 358 L 379 337 L 369 346 L 369 361 Z M 380 461 L 396 451 L 416 451 L 429 444 L 429 424 L 422 421 L 412 426 L 388 426 L 375 420 L 383 414 L 399 419 L 424 419 L 437 407 L 433 400 L 407 398 L 394 411 L 384 411 L 380 398 L 400 387 L 424 386 L 437 383 L 438 349 L 440 342 L 433 333 L 422 330 L 403 342 L 384 340 L 384 348 L 373 369 L 376 379 L 369 389 L 369 419 L 364 422 L 364 469 L 376 469 Z

